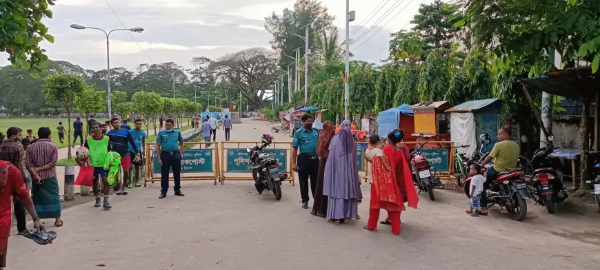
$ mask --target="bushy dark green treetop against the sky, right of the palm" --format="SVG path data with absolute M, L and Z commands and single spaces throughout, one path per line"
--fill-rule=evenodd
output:
M 463 19 L 460 9 L 461 5 L 458 3 L 444 3 L 441 0 L 428 4 L 422 3 L 419 6 L 419 12 L 414 14 L 410 23 L 414 24 L 412 30 L 421 33 L 425 43 L 421 54 L 422 60 L 425 60 L 430 51 L 435 48 L 450 49 L 451 39 L 459 31 L 454 23 Z

